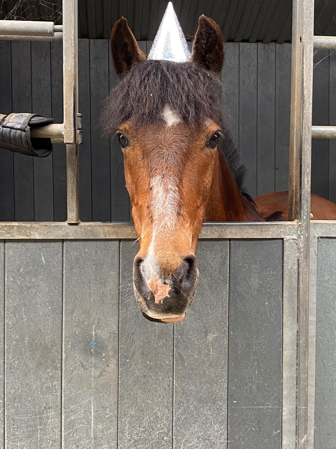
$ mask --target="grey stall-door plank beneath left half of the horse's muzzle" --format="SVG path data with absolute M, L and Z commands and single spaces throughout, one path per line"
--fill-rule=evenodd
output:
M 121 241 L 118 449 L 172 447 L 173 326 L 147 321 L 134 299 L 137 243 Z

